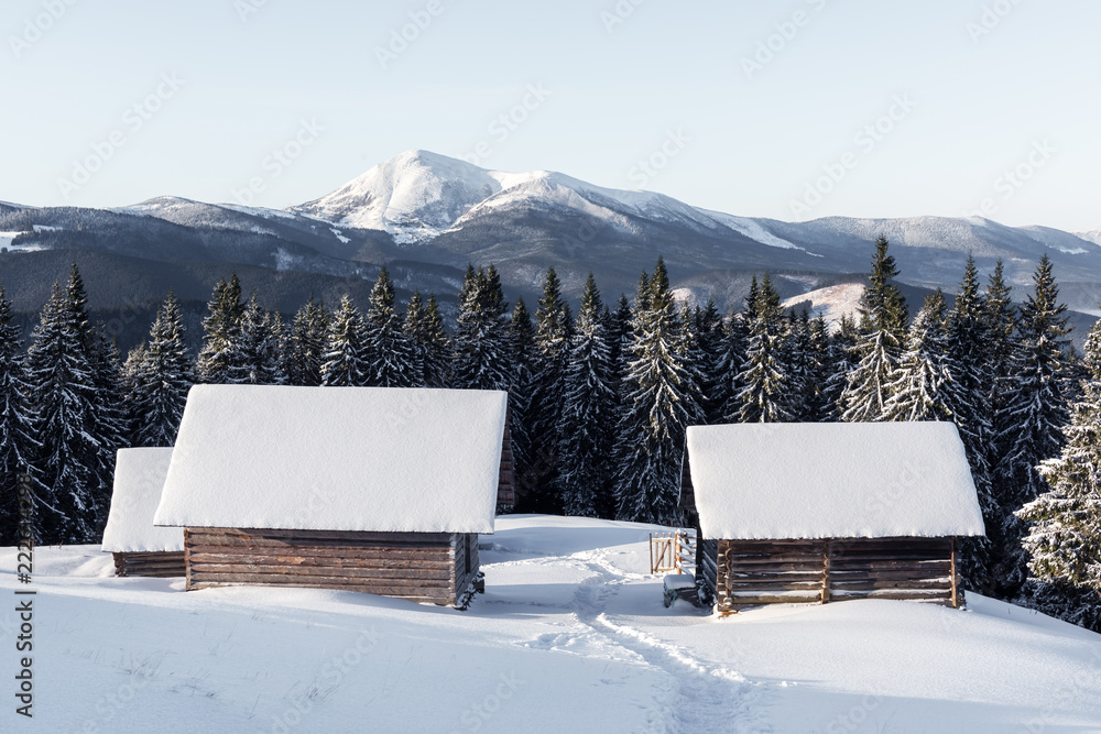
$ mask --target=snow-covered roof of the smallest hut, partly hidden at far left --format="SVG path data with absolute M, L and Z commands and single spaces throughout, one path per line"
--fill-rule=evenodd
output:
M 172 449 L 119 449 L 111 513 L 103 529 L 107 552 L 183 550 L 184 532 L 156 527 L 153 514 L 168 473 Z

